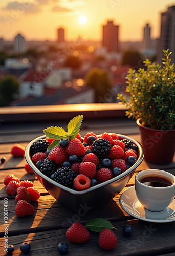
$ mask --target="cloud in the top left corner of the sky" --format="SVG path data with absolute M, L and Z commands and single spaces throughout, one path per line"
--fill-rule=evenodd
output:
M 16 10 L 20 13 L 37 13 L 39 12 L 41 9 L 34 5 L 34 4 L 30 4 L 28 2 L 26 3 L 18 3 L 18 2 L 10 2 L 7 4 L 7 6 L 5 6 L 4 8 L 2 8 L 2 10 Z

